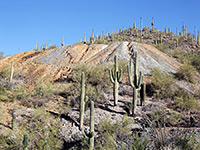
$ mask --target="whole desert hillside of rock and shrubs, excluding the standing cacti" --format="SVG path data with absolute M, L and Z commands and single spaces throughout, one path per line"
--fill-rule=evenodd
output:
M 92 43 L 27 51 L 0 60 L 0 148 L 21 149 L 23 136 L 28 134 L 29 149 L 88 149 L 91 100 L 95 149 L 200 148 L 200 75 L 193 68 L 181 72 L 185 64 L 169 56 L 172 49 L 182 47 L 197 57 L 198 43 L 179 39 L 177 45 L 174 34 L 162 32 L 162 46 L 168 45 L 163 53 L 155 48 L 159 32 L 144 29 L 142 43 L 138 43 L 138 32 L 130 28 Z M 132 114 L 134 92 L 127 64 L 130 58 L 136 61 L 135 52 L 138 70 L 144 74 L 146 101 L 140 105 L 142 93 L 138 91 L 136 113 Z M 114 68 L 115 56 L 123 69 L 117 106 L 108 72 Z M 14 76 L 9 81 L 12 61 Z M 80 130 L 82 72 L 87 98 Z

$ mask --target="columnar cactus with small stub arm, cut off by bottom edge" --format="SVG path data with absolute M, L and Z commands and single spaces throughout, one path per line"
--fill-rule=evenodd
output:
M 90 102 L 90 150 L 94 149 L 94 102 Z

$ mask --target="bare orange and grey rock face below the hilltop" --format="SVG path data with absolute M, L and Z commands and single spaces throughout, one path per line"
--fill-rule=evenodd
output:
M 181 65 L 156 48 L 135 42 L 115 42 L 103 44 L 75 44 L 45 51 L 28 51 L 0 60 L 0 69 L 10 68 L 14 61 L 14 72 L 24 79 L 42 77 L 55 81 L 66 77 L 73 65 L 77 63 L 106 63 L 113 62 L 117 54 L 119 59 L 129 60 L 133 51 L 138 51 L 139 65 L 144 73 L 154 67 L 164 71 L 175 72 Z

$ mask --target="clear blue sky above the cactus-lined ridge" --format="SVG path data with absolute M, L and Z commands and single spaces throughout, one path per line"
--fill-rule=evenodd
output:
M 0 51 L 6 55 L 31 50 L 45 40 L 61 45 L 74 44 L 92 28 L 100 34 L 107 29 L 128 28 L 136 18 L 137 26 L 143 17 L 143 26 L 170 27 L 181 30 L 182 22 L 194 33 L 200 30 L 199 0 L 1 0 Z

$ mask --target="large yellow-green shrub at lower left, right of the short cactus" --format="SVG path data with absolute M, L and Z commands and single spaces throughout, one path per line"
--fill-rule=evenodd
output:
M 28 134 L 30 149 L 62 148 L 62 140 L 58 137 L 59 118 L 51 116 L 42 107 L 35 109 L 30 120 L 21 123 L 19 128 Z

